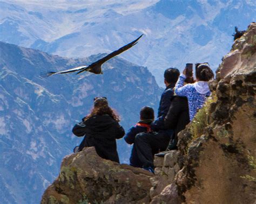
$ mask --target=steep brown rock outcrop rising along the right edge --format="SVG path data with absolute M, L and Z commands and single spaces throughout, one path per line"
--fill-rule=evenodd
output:
M 179 133 L 181 170 L 151 203 L 255 202 L 255 82 L 256 23 L 252 23 L 217 70 L 211 85 L 215 102 L 206 104 L 194 123 Z M 207 123 L 202 128 L 197 120 L 204 114 Z M 201 131 L 196 134 L 194 129 Z

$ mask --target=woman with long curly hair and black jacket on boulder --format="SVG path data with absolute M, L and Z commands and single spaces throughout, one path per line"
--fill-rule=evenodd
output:
M 78 137 L 86 136 L 78 151 L 82 151 L 83 147 L 94 146 L 100 157 L 119 163 L 116 139 L 122 138 L 125 131 L 118 122 L 119 117 L 109 107 L 107 99 L 95 98 L 91 113 L 72 130 Z

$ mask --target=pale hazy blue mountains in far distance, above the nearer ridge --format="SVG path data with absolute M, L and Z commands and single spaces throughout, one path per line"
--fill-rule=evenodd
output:
M 217 68 L 234 26 L 246 29 L 256 12 L 245 0 L 5 4 L 10 9 L 1 12 L 0 33 L 15 35 L 0 40 L 66 57 L 109 53 L 144 33 L 122 57 L 147 66 L 158 82 L 165 68 L 182 69 L 186 62 L 208 61 Z

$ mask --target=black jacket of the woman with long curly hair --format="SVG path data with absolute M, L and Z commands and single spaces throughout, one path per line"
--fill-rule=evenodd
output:
M 79 146 L 94 146 L 98 155 L 119 163 L 116 139 L 124 136 L 124 129 L 109 115 L 93 116 L 84 122 L 76 124 L 72 132 L 78 136 L 85 136 Z

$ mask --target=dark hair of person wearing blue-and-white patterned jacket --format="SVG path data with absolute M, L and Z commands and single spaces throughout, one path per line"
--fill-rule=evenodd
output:
M 212 69 L 208 65 L 207 62 L 200 64 L 196 64 L 196 78 L 199 81 L 209 81 L 214 77 Z

